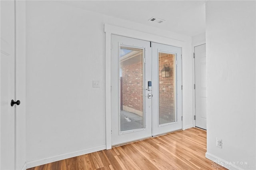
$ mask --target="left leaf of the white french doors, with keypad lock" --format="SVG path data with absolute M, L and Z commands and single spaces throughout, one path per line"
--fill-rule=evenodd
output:
M 152 136 L 150 42 L 111 36 L 112 145 Z M 148 90 L 147 90 L 148 89 Z

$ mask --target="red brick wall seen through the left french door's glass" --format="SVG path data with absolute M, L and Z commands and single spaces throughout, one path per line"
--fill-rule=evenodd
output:
M 143 112 L 143 62 L 122 68 L 123 109 L 142 115 Z

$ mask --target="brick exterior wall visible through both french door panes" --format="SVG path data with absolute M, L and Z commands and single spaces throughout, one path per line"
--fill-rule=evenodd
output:
M 162 77 L 164 65 L 170 67 L 170 77 Z M 138 115 L 143 112 L 143 62 L 126 65 L 122 68 L 121 103 L 125 111 Z M 154 88 L 154 87 L 153 87 Z M 159 53 L 159 114 L 160 124 L 174 120 L 175 114 L 174 55 Z

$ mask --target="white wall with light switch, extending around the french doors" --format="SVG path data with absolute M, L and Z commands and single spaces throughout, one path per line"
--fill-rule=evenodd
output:
M 184 127 L 192 126 L 190 37 L 74 8 L 57 1 L 28 1 L 28 168 L 106 148 L 105 23 L 173 38 L 186 44 L 182 47 L 183 115 Z M 92 88 L 92 80 L 99 80 L 100 88 Z

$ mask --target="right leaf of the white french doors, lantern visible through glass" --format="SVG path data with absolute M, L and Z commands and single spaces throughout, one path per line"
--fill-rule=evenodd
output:
M 152 43 L 152 136 L 182 128 L 181 48 Z

